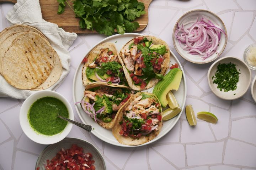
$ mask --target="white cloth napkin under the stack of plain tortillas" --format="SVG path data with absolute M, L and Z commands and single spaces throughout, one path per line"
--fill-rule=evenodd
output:
M 76 39 L 76 33 L 65 32 L 63 29 L 59 28 L 57 24 L 45 21 L 42 18 L 39 0 L 17 0 L 14 8 L 7 13 L 6 18 L 12 24 L 24 24 L 35 27 L 48 38 L 53 49 L 58 53 L 63 67 L 60 79 L 47 89 L 56 90 L 69 73 L 70 54 L 68 48 Z M 0 97 L 10 96 L 17 99 L 26 99 L 34 92 L 36 91 L 16 89 L 0 76 Z

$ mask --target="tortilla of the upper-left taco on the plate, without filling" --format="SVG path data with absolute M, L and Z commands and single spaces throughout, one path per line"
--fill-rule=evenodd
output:
M 91 84 L 92 82 L 87 78 L 86 76 L 86 68 L 88 67 L 89 64 L 91 64 L 92 62 L 94 62 L 95 58 L 98 56 L 98 53 L 100 53 L 101 49 L 106 49 L 108 48 L 110 51 L 113 51 L 114 55 L 118 55 L 117 54 L 117 50 L 116 50 L 116 46 L 111 43 L 111 42 L 105 42 L 103 44 L 100 44 L 98 46 L 96 46 L 94 49 L 92 49 L 89 54 L 87 56 L 85 56 L 88 61 L 86 63 L 84 63 L 84 66 L 82 68 L 82 81 L 83 81 L 83 85 L 88 85 Z M 119 58 L 119 57 L 118 57 Z M 119 59 L 120 60 L 120 59 Z

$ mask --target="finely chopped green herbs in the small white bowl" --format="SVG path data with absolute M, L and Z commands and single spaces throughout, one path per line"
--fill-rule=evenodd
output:
M 239 81 L 239 72 L 233 63 L 219 64 L 218 70 L 212 77 L 213 83 L 217 84 L 217 88 L 222 91 L 234 91 L 237 88 L 237 83 Z

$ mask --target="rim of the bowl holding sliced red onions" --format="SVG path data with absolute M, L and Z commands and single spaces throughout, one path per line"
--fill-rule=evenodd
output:
M 219 21 L 222 22 L 222 24 L 223 24 L 223 26 L 224 26 L 224 29 L 225 29 L 225 33 L 228 33 L 224 22 L 222 21 L 222 19 L 221 19 L 217 14 L 215 14 L 215 13 L 213 13 L 213 12 L 211 12 L 211 11 L 208 11 L 208 10 L 204 10 L 204 9 L 195 9 L 195 10 L 191 10 L 191 11 L 188 11 L 188 12 L 184 13 L 184 14 L 177 20 L 177 22 L 176 22 L 175 25 L 174 25 L 174 29 L 173 29 L 173 31 L 172 31 L 172 43 L 174 44 L 174 48 L 175 48 L 175 50 L 178 52 L 178 54 L 179 54 L 182 58 L 184 58 L 185 60 L 187 60 L 187 61 L 189 61 L 189 62 L 191 62 L 191 63 L 195 63 L 195 64 L 206 64 L 206 63 L 209 63 L 209 62 L 212 62 L 212 61 L 216 60 L 216 58 L 218 58 L 218 57 L 222 54 L 222 52 L 225 50 L 226 44 L 227 44 L 227 42 L 228 42 L 228 37 L 227 37 L 228 35 L 226 35 L 225 44 L 224 44 L 224 46 L 223 46 L 223 50 L 219 53 L 219 55 L 216 56 L 215 58 L 213 58 L 212 60 L 205 61 L 205 62 L 204 62 L 203 60 L 202 60 L 202 62 L 196 62 L 196 61 L 190 60 L 189 58 L 183 56 L 183 55 L 179 52 L 179 50 L 177 50 L 176 43 L 175 43 L 175 37 L 174 37 L 174 35 L 175 35 L 175 28 L 176 28 L 176 26 L 177 26 L 177 23 L 181 20 L 182 17 L 184 17 L 184 16 L 187 15 L 188 13 L 197 12 L 197 11 L 208 12 L 208 13 L 214 15 L 215 17 L 217 17 L 217 18 L 219 19 Z

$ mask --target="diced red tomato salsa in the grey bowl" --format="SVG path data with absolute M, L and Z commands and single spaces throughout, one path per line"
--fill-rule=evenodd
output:
M 46 170 L 95 170 L 91 153 L 73 144 L 70 149 L 61 149 L 52 160 L 47 160 Z M 39 170 L 39 168 L 37 169 Z

